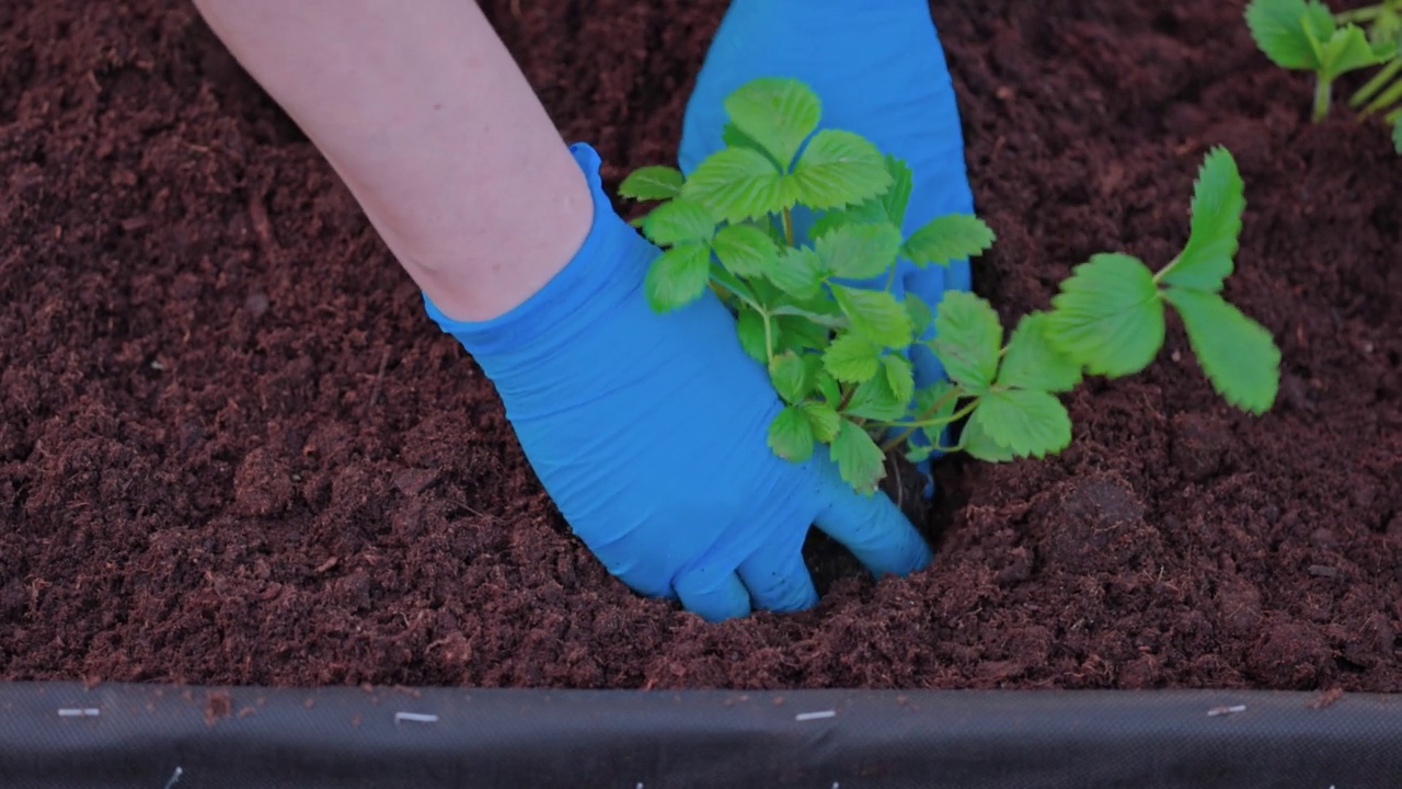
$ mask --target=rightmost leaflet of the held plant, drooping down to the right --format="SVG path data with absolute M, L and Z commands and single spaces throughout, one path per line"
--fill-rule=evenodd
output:
M 1164 298 L 1183 317 L 1213 389 L 1244 411 L 1266 413 L 1280 389 L 1280 350 L 1270 331 L 1217 293 L 1169 288 Z

